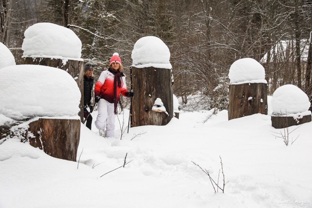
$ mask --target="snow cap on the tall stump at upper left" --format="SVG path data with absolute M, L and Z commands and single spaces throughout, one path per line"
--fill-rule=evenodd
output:
M 37 23 L 24 33 L 23 57 L 81 57 L 81 41 L 70 29 L 52 23 Z

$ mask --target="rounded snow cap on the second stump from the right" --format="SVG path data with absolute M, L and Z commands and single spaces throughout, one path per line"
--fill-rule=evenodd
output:
M 250 80 L 262 80 L 261 83 L 267 83 L 265 80 L 265 70 L 263 66 L 252 58 L 243 58 L 236 60 L 229 71 L 230 84 Z

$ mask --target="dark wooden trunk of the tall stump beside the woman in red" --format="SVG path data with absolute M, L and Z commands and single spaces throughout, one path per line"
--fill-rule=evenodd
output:
M 132 67 L 131 127 L 144 125 L 166 125 L 173 118 L 173 88 L 171 70 L 154 67 Z M 153 111 L 157 98 L 163 102 L 169 115 Z

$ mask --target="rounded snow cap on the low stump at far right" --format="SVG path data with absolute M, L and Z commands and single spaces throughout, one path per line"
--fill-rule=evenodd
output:
M 272 97 L 273 114 L 297 114 L 308 111 L 308 96 L 295 85 L 283 85 Z

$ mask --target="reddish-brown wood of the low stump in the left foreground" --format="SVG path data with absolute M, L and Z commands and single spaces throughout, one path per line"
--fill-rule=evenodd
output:
M 29 143 L 43 149 L 48 155 L 76 161 L 80 140 L 80 120 L 39 119 L 29 124 Z M 29 135 L 29 134 L 28 134 Z

